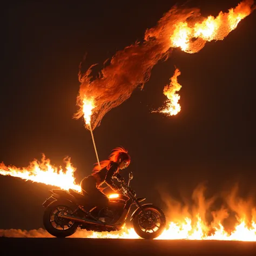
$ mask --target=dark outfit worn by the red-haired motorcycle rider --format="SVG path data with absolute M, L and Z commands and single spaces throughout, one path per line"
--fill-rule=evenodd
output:
M 80 186 L 82 188 L 82 193 L 84 195 L 89 195 L 90 199 L 92 199 L 93 206 L 105 208 L 109 205 L 109 198 L 100 192 L 99 188 L 106 183 L 113 191 L 117 191 L 118 186 L 113 183 L 113 178 L 116 178 L 118 170 L 118 164 L 111 162 L 102 170 L 92 173 L 81 181 Z

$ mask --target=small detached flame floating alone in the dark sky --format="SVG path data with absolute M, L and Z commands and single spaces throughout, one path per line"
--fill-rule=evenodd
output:
M 181 89 L 181 85 L 178 83 L 177 77 L 180 75 L 179 69 L 176 69 L 174 75 L 171 77 L 170 85 L 164 87 L 164 95 L 168 98 L 165 102 L 164 107 L 160 107 L 158 111 L 154 110 L 152 112 L 160 112 L 167 114 L 168 116 L 175 116 L 180 112 L 181 107 L 178 103 L 180 96 L 177 92 Z

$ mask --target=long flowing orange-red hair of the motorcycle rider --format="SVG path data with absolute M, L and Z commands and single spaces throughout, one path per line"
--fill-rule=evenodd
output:
M 95 167 L 93 167 L 92 172 L 96 173 L 105 167 L 107 167 L 107 169 L 109 170 L 110 164 L 113 162 L 119 163 L 119 159 L 121 161 L 127 160 L 128 164 L 126 166 L 129 166 L 129 164 L 131 162 L 131 157 L 128 154 L 128 151 L 126 149 L 124 149 L 124 147 L 116 147 L 115 149 L 113 149 L 107 160 L 103 160 L 103 161 L 99 162 L 100 166 L 98 163 L 95 164 Z

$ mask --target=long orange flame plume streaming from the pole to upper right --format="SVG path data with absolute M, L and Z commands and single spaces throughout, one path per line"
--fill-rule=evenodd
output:
M 85 102 L 93 101 L 90 118 L 92 130 L 95 129 L 108 111 L 128 99 L 138 85 L 144 86 L 153 66 L 160 59 L 169 58 L 172 48 L 195 53 L 206 42 L 223 40 L 242 19 L 251 14 L 253 3 L 253 0 L 244 0 L 227 12 L 221 11 L 217 17 L 206 18 L 197 8 L 174 6 L 158 21 L 157 26 L 145 32 L 143 42 L 118 51 L 98 77 L 93 79 L 91 76 L 95 65 L 84 74 L 79 71 L 79 110 L 74 117 L 83 117 Z M 89 129 L 88 125 L 85 127 Z

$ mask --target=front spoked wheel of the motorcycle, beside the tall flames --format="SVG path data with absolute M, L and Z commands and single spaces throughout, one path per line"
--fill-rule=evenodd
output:
M 163 233 L 166 219 L 164 212 L 153 205 L 144 206 L 145 214 L 142 210 L 133 218 L 133 228 L 135 232 L 144 239 L 154 239 Z

